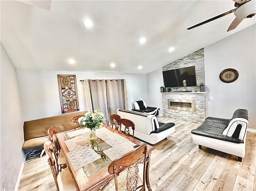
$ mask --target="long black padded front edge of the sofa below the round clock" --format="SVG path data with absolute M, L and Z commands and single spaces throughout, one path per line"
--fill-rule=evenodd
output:
M 195 135 L 200 135 L 200 136 L 205 136 L 205 137 L 209 137 L 209 138 L 224 140 L 224 141 L 228 141 L 228 142 L 244 143 L 243 140 L 240 140 L 238 138 L 229 137 L 229 136 L 222 135 L 222 134 L 217 134 L 217 133 L 212 133 L 212 132 L 206 131 L 206 130 L 194 129 L 191 132 L 192 132 L 192 134 L 195 134 Z

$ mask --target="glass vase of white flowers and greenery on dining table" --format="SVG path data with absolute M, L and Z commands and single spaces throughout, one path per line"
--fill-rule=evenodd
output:
M 103 125 L 104 114 L 100 112 L 100 109 L 97 108 L 92 113 L 86 112 L 84 116 L 78 118 L 78 123 L 82 126 L 82 128 L 90 129 L 90 140 L 96 139 L 96 129 L 101 128 Z

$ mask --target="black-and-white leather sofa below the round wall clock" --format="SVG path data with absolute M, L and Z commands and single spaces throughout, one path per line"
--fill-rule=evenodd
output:
M 234 111 L 231 119 L 207 117 L 197 129 L 192 130 L 192 139 L 201 149 L 202 146 L 238 156 L 245 156 L 245 141 L 248 127 L 248 110 Z

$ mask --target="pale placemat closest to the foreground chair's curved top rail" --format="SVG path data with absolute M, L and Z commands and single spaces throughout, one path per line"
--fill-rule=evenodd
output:
M 129 140 L 126 140 L 126 142 L 104 150 L 103 152 L 108 158 L 110 158 L 110 160 L 113 161 L 114 159 L 134 150 L 134 145 L 136 144 Z

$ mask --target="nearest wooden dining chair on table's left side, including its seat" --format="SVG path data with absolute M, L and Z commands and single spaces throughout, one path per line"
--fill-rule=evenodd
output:
M 54 177 L 57 191 L 76 190 L 76 185 L 69 169 L 65 168 L 62 171 L 58 171 L 58 165 L 56 164 L 56 158 L 54 157 L 54 147 L 51 141 L 46 141 L 44 143 L 44 150 L 49 156 L 48 162 Z

